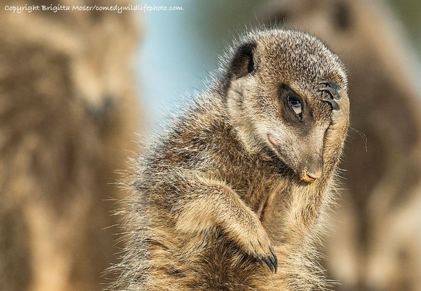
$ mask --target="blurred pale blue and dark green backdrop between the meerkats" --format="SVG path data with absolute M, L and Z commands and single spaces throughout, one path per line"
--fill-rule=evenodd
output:
M 136 71 L 146 107 L 147 130 L 161 123 L 168 111 L 175 110 L 175 105 L 182 104 L 183 96 L 203 88 L 203 81 L 218 68 L 218 55 L 229 44 L 223 40 L 232 39 L 245 23 L 250 24 L 249 19 L 255 14 L 252 8 L 261 6 L 264 1 L 150 0 L 141 3 L 183 7 L 183 11 L 141 13 L 144 32 Z

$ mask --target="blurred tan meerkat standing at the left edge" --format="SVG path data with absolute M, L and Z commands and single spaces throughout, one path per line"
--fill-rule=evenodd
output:
M 136 16 L 0 14 L 0 290 L 100 290 L 116 260 L 104 200 L 122 197 L 110 183 L 138 128 Z

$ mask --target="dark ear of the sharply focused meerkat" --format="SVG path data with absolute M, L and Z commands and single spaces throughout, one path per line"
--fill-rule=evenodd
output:
M 248 73 L 253 73 L 255 70 L 255 63 L 253 56 L 255 53 L 255 42 L 243 44 L 234 55 L 230 66 L 230 79 L 241 78 Z

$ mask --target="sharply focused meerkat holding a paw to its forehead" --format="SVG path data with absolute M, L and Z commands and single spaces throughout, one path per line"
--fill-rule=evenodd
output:
M 136 161 L 108 290 L 323 289 L 315 240 L 349 123 L 340 58 L 255 30 Z

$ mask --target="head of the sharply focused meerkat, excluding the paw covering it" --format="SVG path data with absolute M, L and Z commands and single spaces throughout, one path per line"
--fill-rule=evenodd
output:
M 245 147 L 270 150 L 301 180 L 323 173 L 325 133 L 333 106 L 321 81 L 347 87 L 343 63 L 322 42 L 298 31 L 253 31 L 225 71 L 230 119 Z

